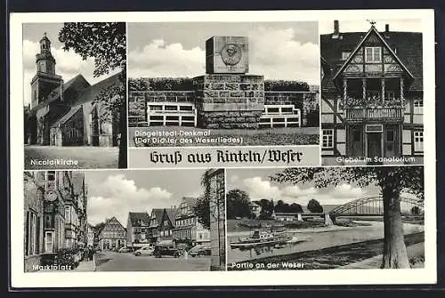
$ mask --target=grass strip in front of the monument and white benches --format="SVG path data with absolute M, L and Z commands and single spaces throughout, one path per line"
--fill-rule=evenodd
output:
M 166 143 L 155 142 L 152 138 L 145 137 L 144 139 L 146 140 L 144 142 L 136 144 L 136 131 L 150 133 L 176 132 L 177 135 L 166 137 L 169 139 Z M 190 132 L 208 133 L 203 137 L 212 139 L 212 141 L 200 142 L 196 136 L 180 135 L 181 132 L 182 134 Z M 319 127 L 282 127 L 267 129 L 202 129 L 182 126 L 130 127 L 128 144 L 130 147 L 317 145 L 320 141 L 319 133 Z M 222 138 L 231 138 L 234 141 L 222 141 Z

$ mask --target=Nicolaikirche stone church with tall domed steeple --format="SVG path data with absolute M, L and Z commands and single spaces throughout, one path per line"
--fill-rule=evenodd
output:
M 55 72 L 51 41 L 44 34 L 36 54 L 36 75 L 32 78 L 31 103 L 25 135 L 29 145 L 117 146 L 118 112 L 98 101 L 105 90 L 122 84 L 119 74 L 90 85 L 77 75 L 68 82 Z

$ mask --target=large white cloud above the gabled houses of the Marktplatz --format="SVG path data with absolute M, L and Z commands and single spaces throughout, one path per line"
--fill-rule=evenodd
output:
M 105 181 L 95 185 L 94 192 L 101 196 L 90 197 L 88 200 L 88 221 L 95 224 L 107 217 L 116 216 L 124 226 L 130 211 L 150 213 L 152 208 L 170 205 L 169 200 L 172 197 L 170 192 L 159 187 L 138 188 L 124 174 L 110 175 Z

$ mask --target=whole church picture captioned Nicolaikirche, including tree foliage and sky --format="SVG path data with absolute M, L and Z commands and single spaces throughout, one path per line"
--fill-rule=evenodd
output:
M 24 24 L 23 47 L 25 169 L 126 168 L 125 23 Z

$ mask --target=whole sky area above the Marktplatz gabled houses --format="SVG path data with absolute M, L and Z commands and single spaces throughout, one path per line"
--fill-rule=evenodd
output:
M 116 216 L 126 226 L 129 212 L 179 206 L 182 197 L 198 197 L 204 170 L 85 171 L 86 218 L 91 224 Z

